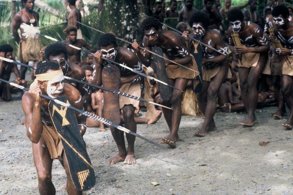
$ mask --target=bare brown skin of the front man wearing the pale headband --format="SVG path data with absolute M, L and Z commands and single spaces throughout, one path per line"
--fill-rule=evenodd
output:
M 48 70 L 49 73 L 52 70 Z M 33 142 L 33 156 L 34 164 L 38 173 L 38 190 L 40 194 L 55 194 L 56 190 L 52 183 L 52 162 L 53 159 L 50 158 L 49 150 L 42 136 L 43 123 L 44 121 L 50 121 L 51 119 L 48 115 L 45 115 L 41 112 L 41 107 L 49 113 L 48 105 L 49 100 L 40 97 L 40 93 L 47 95 L 47 83 L 48 81 L 38 81 L 38 86 L 32 87 L 28 92 L 24 93 L 22 98 L 22 107 L 25 114 L 25 126 L 27 131 L 27 137 Z M 61 90 L 62 85 L 58 84 L 57 89 Z M 63 92 L 58 94 L 60 96 L 66 96 L 71 99 L 72 102 L 75 102 L 79 99 L 79 92 L 70 84 L 64 83 Z M 57 96 L 57 95 L 54 95 Z M 76 108 L 82 109 L 83 105 L 80 101 L 77 104 L 73 105 Z M 78 123 L 85 122 L 85 117 L 78 116 L 79 113 L 75 113 Z M 52 124 L 52 122 L 50 122 Z M 85 132 L 84 128 L 79 126 L 81 135 Z M 30 133 L 31 131 L 31 133 Z M 45 147 L 44 147 L 45 146 Z M 62 156 L 59 158 L 60 162 L 64 162 L 64 168 L 67 175 L 67 193 L 68 194 L 82 194 L 81 191 L 78 191 L 72 182 L 71 175 L 69 172 L 69 167 L 67 163 L 67 158 L 65 153 L 62 153 Z

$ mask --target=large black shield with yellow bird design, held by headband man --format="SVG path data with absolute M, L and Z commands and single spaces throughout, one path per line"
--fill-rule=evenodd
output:
M 71 100 L 65 96 L 55 99 L 73 105 Z M 55 101 L 50 101 L 49 113 L 62 141 L 74 186 L 80 191 L 90 190 L 96 183 L 95 172 L 81 137 L 74 111 Z

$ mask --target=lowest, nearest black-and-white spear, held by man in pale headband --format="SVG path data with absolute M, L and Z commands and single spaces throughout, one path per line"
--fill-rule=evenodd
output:
M 29 90 L 30 90 L 30 89 L 27 88 L 27 87 L 20 86 L 20 85 L 18 85 L 18 84 L 16 84 L 16 83 L 12 83 L 12 82 L 7 81 L 7 80 L 4 80 L 4 79 L 0 79 L 0 81 L 2 81 L 2 82 L 4 82 L 4 83 L 8 83 L 8 84 L 10 84 L 10 85 L 12 85 L 12 86 L 14 86 L 14 87 L 20 88 L 20 89 L 22 89 L 22 90 L 26 90 L 26 91 L 29 91 Z M 109 121 L 109 120 L 107 120 L 107 119 L 104 119 L 104 118 L 102 118 L 102 117 L 99 117 L 99 116 L 97 116 L 97 115 L 94 115 L 94 114 L 92 114 L 92 113 L 90 113 L 90 112 L 87 112 L 87 111 L 84 111 L 84 110 L 81 110 L 81 109 L 75 108 L 74 106 L 68 105 L 68 104 L 66 104 L 66 103 L 64 103 L 64 102 L 62 102 L 62 101 L 56 100 L 56 99 L 51 98 L 51 97 L 49 97 L 49 96 L 47 96 L 47 95 L 40 94 L 40 96 L 41 96 L 42 98 L 46 98 L 46 99 L 48 99 L 48 100 L 50 100 L 50 101 L 54 101 L 54 102 L 56 102 L 57 104 L 60 104 L 61 106 L 64 106 L 64 107 L 70 108 L 70 109 L 72 109 L 72 110 L 74 110 L 74 111 L 76 111 L 76 112 L 79 112 L 80 114 L 82 114 L 82 115 L 84 115 L 84 116 L 86 116 L 86 117 L 90 117 L 90 118 L 92 118 L 92 119 L 94 119 L 94 120 L 96 120 L 96 121 L 103 122 L 103 123 L 104 123 L 105 125 L 107 125 L 107 126 L 114 127 L 114 128 L 119 129 L 119 130 L 121 130 L 121 131 L 124 131 L 125 133 L 129 133 L 129 134 L 131 134 L 131 135 L 134 135 L 134 136 L 136 136 L 136 137 L 139 137 L 139 138 L 141 138 L 141 139 L 143 139 L 143 140 L 145 140 L 145 141 L 147 141 L 147 142 L 149 142 L 149 143 L 151 143 L 151 144 L 154 144 L 154 145 L 156 145 L 156 146 L 158 146 L 158 147 L 164 148 L 165 150 L 172 151 L 172 150 L 169 150 L 168 148 L 162 146 L 161 144 L 158 144 L 158 143 L 156 143 L 156 142 L 154 142 L 154 141 L 152 141 L 152 140 L 150 140 L 150 139 L 147 139 L 146 137 L 143 137 L 143 136 L 141 136 L 141 135 L 139 135 L 139 134 L 137 134 L 137 133 L 134 133 L 133 131 L 130 131 L 129 129 L 126 129 L 126 128 L 120 126 L 120 125 L 117 125 L 117 124 L 115 124 L 115 123 L 113 123 L 113 122 L 111 122 L 111 121 Z

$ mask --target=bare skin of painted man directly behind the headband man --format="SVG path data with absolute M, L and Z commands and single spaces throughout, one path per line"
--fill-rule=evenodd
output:
M 51 55 L 51 56 L 49 56 L 49 61 L 55 62 L 57 64 L 60 62 L 60 68 L 62 69 L 63 74 L 65 76 L 86 82 L 85 71 L 81 67 L 77 66 L 74 63 L 69 62 L 68 63 L 68 70 L 66 72 L 66 70 L 62 67 L 64 59 L 61 59 L 61 58 L 67 59 L 67 56 L 65 56 L 63 53 L 61 53 L 60 55 L 57 55 L 57 56 Z M 77 83 L 75 81 L 69 81 L 69 83 L 71 83 L 76 89 L 78 89 L 78 91 L 80 92 L 80 94 L 82 96 L 82 102 L 85 103 L 86 100 L 89 98 L 89 93 L 90 93 L 89 86 L 81 84 L 81 83 Z

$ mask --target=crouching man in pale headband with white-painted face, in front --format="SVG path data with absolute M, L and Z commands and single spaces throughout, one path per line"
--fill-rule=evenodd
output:
M 27 137 L 33 142 L 34 164 L 38 173 L 38 190 L 40 194 L 55 194 L 52 183 L 52 162 L 58 159 L 67 173 L 67 193 L 82 194 L 71 179 L 67 158 L 63 151 L 61 140 L 51 121 L 48 105 L 49 100 L 40 97 L 40 93 L 51 98 L 66 96 L 73 102 L 73 106 L 83 109 L 81 95 L 77 89 L 64 83 L 64 76 L 60 66 L 54 62 L 44 62 L 37 66 L 36 80 L 30 90 L 24 93 L 22 107 L 25 114 Z M 85 117 L 76 115 L 81 135 L 85 133 Z

